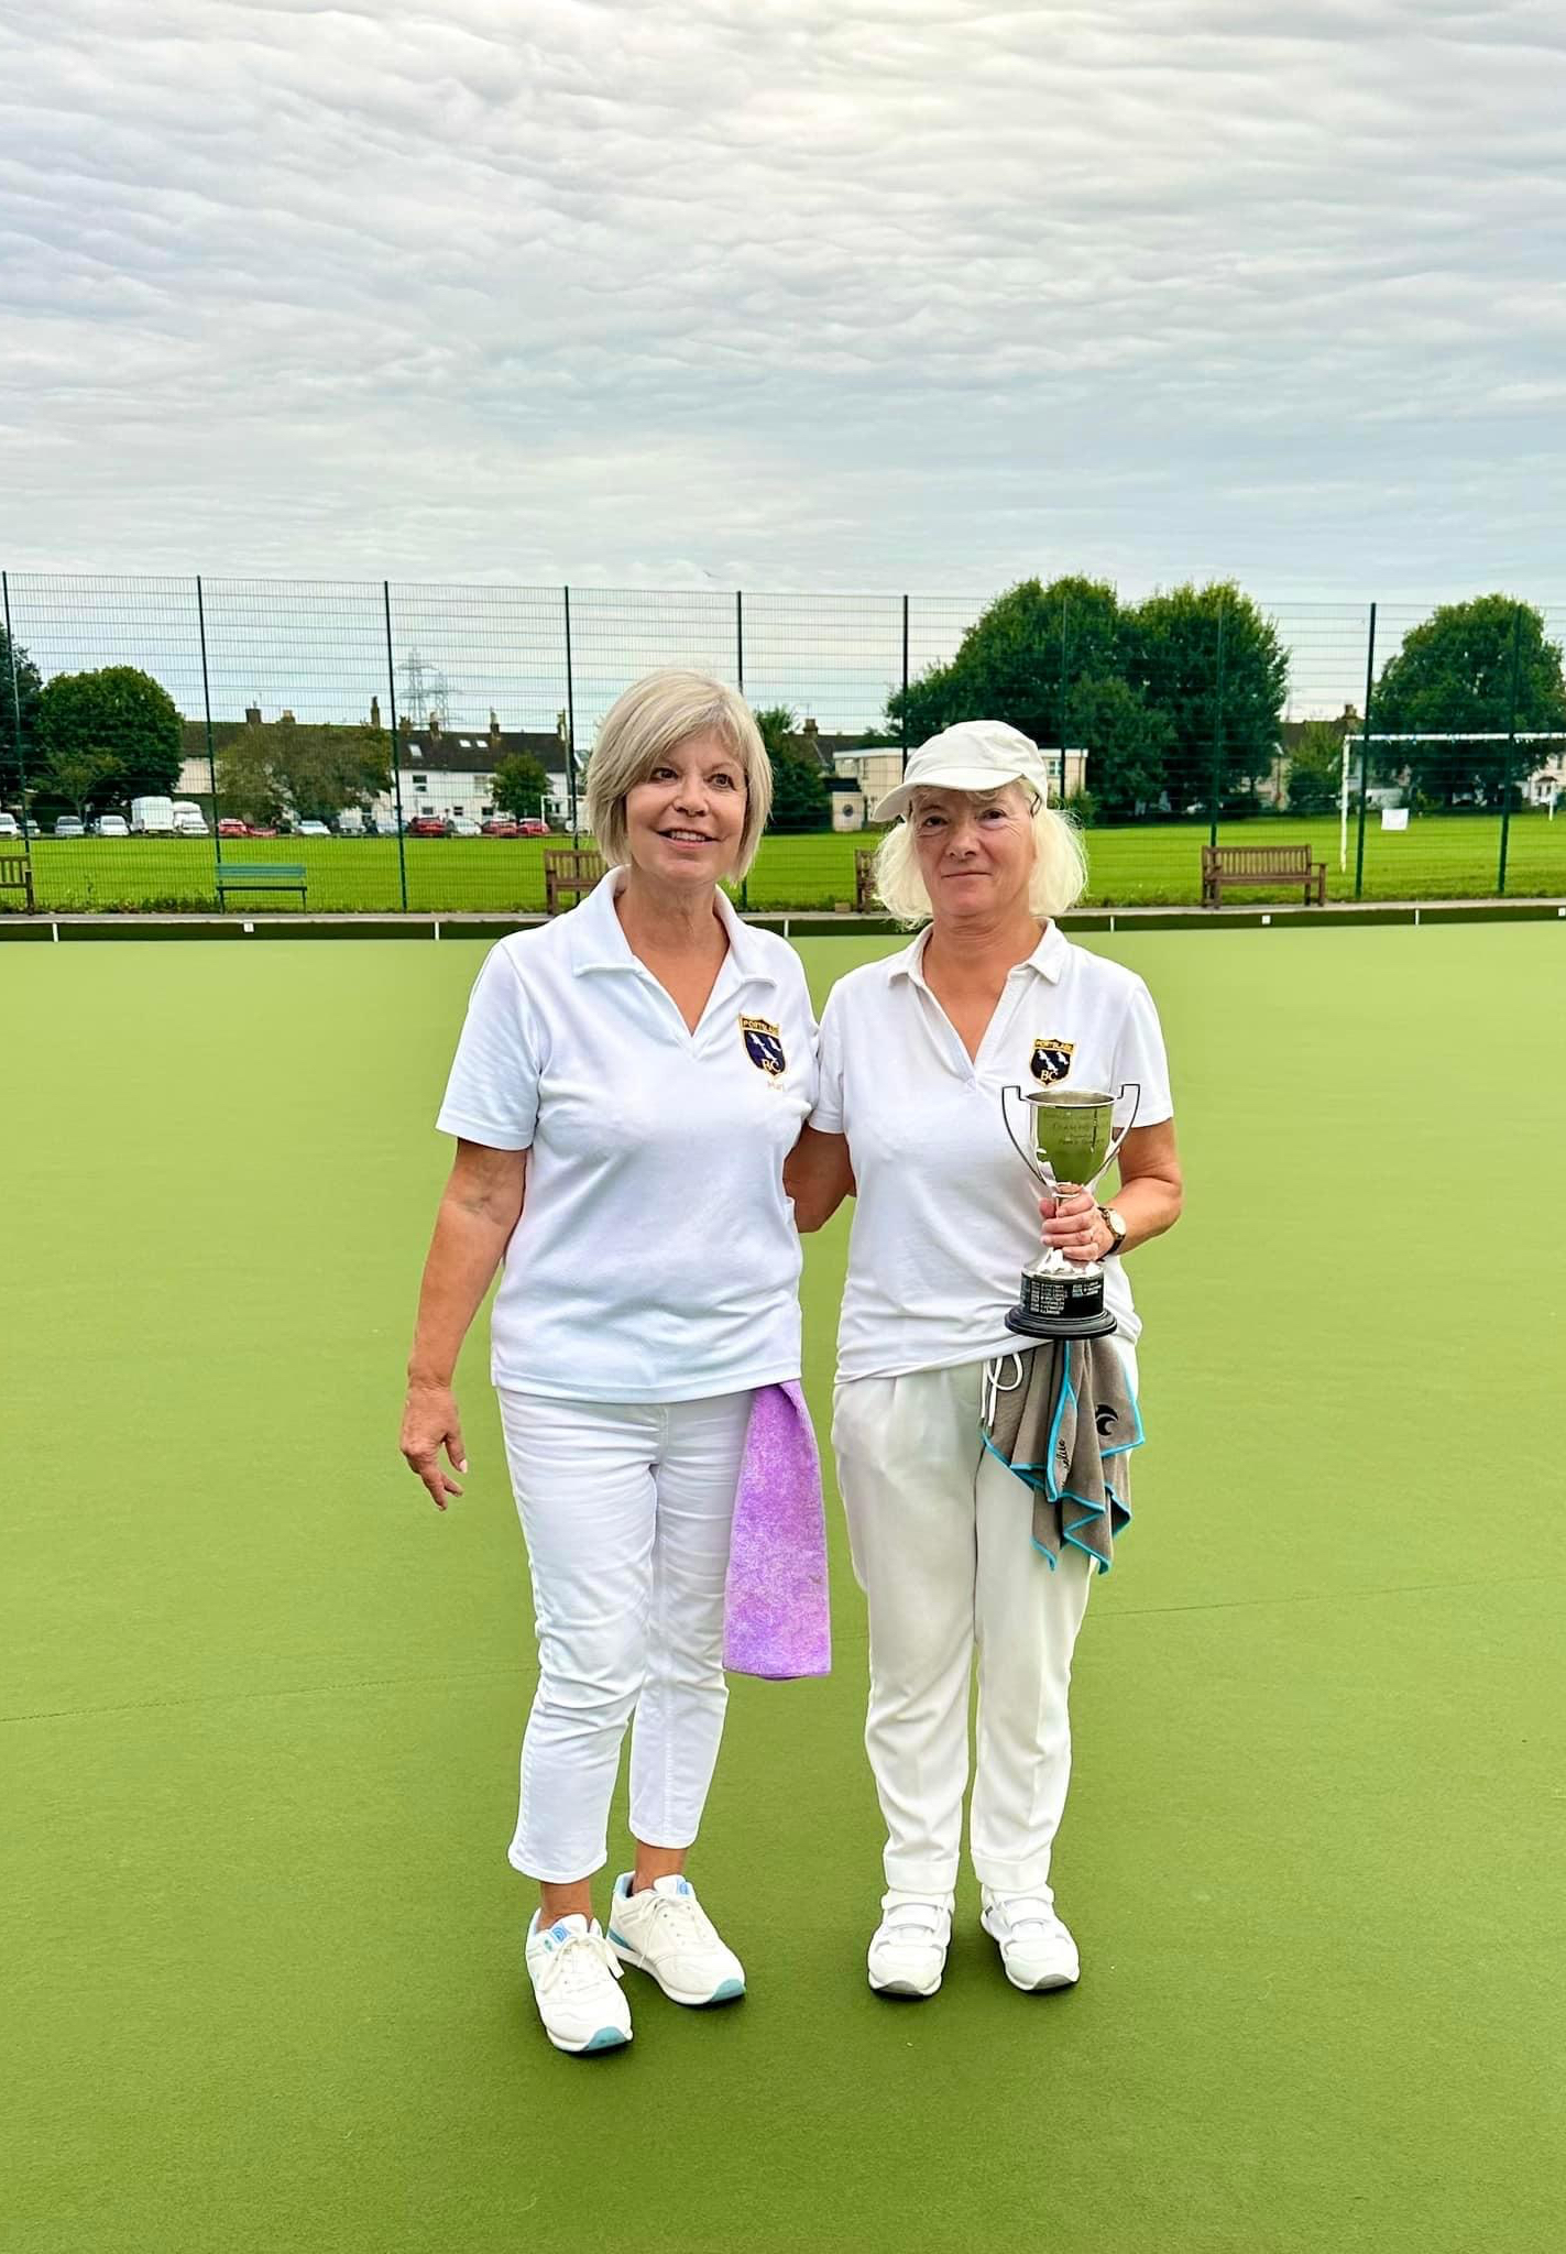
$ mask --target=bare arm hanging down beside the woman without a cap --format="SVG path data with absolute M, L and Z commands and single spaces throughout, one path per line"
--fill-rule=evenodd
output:
M 525 1179 L 525 1150 L 457 1143 L 451 1181 L 435 1215 L 408 1355 L 408 1402 L 399 1445 L 410 1470 L 430 1490 L 437 1510 L 446 1508 L 448 1494 L 462 1494 L 442 1467 L 442 1447 L 455 1472 L 469 1467 L 451 1375 L 469 1323 L 520 1219 Z

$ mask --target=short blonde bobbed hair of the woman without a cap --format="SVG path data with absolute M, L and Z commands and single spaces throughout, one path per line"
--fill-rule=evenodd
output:
M 746 775 L 746 825 L 739 832 L 730 877 L 744 877 L 773 811 L 773 762 L 737 690 L 712 674 L 665 665 L 642 674 L 604 715 L 588 760 L 588 823 L 599 852 L 615 868 L 631 859 L 626 791 L 647 782 L 653 766 L 692 735 L 719 735 Z

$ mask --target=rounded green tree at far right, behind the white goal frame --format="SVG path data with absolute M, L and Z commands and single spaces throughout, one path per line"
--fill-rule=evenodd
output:
M 1516 660 L 1516 715 L 1512 667 Z M 1498 805 L 1507 782 L 1530 773 L 1537 746 L 1516 746 L 1507 775 L 1505 744 L 1388 744 L 1379 735 L 1503 735 L 1510 726 L 1566 728 L 1561 649 L 1546 640 L 1543 618 L 1512 595 L 1447 602 L 1404 636 L 1381 667 L 1372 706 L 1372 764 L 1408 769 L 1422 798 L 1438 805 L 1478 798 Z

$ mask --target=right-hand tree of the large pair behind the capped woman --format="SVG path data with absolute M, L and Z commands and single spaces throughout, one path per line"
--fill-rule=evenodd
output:
M 1224 699 L 1219 708 L 1219 618 Z M 1149 595 L 1131 613 L 1129 678 L 1169 724 L 1165 791 L 1174 811 L 1244 798 L 1273 766 L 1289 694 L 1278 627 L 1233 579 Z

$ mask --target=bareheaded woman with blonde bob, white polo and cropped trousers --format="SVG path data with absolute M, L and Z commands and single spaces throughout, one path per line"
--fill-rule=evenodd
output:
M 588 769 L 611 866 L 502 940 L 439 1125 L 457 1138 L 424 1271 L 401 1447 L 439 1510 L 466 1472 L 451 1377 L 491 1319 L 532 1564 L 539 1690 L 509 1857 L 539 1882 L 527 1972 L 550 2042 L 631 2040 L 624 1963 L 678 2004 L 744 1993 L 685 1878 L 723 1731 L 723 1578 L 753 1393 L 800 1375 L 782 1161 L 816 1093 L 800 958 L 719 888 L 766 825 L 744 701 L 660 672 Z M 635 1862 L 593 1916 L 620 1747 Z

